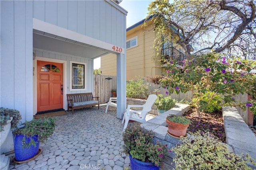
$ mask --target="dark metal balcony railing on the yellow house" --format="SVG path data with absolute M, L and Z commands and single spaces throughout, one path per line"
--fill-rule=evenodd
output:
M 182 63 L 184 59 L 186 59 L 186 55 L 179 50 L 177 50 L 174 47 L 168 47 L 165 49 L 162 49 L 161 51 L 161 63 L 166 64 L 167 62 L 170 61 L 176 61 L 178 63 Z

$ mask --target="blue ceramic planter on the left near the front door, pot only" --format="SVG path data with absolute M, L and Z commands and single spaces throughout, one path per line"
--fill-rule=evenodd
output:
M 28 160 L 30 158 L 33 158 L 39 149 L 39 141 L 38 141 L 38 135 L 34 135 L 32 139 L 36 142 L 36 147 L 34 145 L 31 145 L 30 147 L 25 147 L 24 149 L 22 148 L 22 139 L 24 135 L 14 135 L 13 136 L 13 143 L 14 143 L 14 151 L 15 151 L 15 160 L 16 161 L 24 161 Z M 30 142 L 30 138 L 25 137 L 26 143 Z

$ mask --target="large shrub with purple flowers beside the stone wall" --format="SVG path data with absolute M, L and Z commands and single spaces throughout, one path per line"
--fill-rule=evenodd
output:
M 216 95 L 223 96 L 222 100 L 217 101 L 218 105 L 242 106 L 239 101 L 234 100 L 234 95 L 255 92 L 256 75 L 250 74 L 255 68 L 256 61 L 231 60 L 220 53 L 208 53 L 184 60 L 182 65 L 171 61 L 166 67 L 167 76 L 161 83 L 169 93 L 191 91 L 192 104 L 196 106 L 198 117 L 202 117 L 205 109 L 203 106 Z M 212 96 L 206 101 L 203 96 L 209 91 Z

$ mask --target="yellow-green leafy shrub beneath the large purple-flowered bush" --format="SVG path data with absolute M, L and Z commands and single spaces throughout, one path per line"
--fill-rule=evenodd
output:
M 212 100 L 210 100 L 211 98 Z M 196 100 L 197 98 L 192 99 L 194 106 L 196 106 Z M 204 110 L 205 113 L 213 113 L 214 111 L 220 111 L 222 108 L 221 103 L 221 95 L 214 95 L 214 92 L 206 92 L 202 96 L 202 100 L 200 101 L 200 110 Z

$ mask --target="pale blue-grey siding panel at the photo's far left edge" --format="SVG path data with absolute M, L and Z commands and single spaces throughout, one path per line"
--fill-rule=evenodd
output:
M 14 2 L 1 1 L 1 107 L 14 108 Z M 10 21 L 10 22 L 8 22 Z M 8 41 L 9 40 L 9 41 Z M 2 64 L 5 63 L 5 64 Z M 10 76 L 8 76 L 10 75 Z

